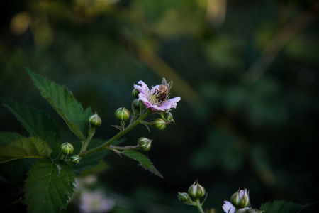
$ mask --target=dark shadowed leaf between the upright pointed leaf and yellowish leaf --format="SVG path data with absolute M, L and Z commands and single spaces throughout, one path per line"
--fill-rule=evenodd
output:
M 55 122 L 44 111 L 39 111 L 24 104 L 18 104 L 8 99 L 1 99 L 2 104 L 7 107 L 21 122 L 32 136 L 38 136 L 47 141 L 52 148 L 52 156 L 60 153 L 61 136 Z

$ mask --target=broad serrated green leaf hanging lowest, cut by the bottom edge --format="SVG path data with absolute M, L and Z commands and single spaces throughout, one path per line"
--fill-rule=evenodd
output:
M 28 212 L 60 212 L 73 194 L 74 178 L 66 163 L 39 160 L 30 168 L 24 186 Z

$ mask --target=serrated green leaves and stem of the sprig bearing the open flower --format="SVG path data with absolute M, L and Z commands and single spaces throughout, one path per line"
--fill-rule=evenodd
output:
M 72 168 L 71 161 L 66 160 L 66 155 L 69 152 L 60 151 L 61 146 L 59 145 L 62 143 L 60 133 L 57 131 L 57 126 L 55 126 L 55 122 L 52 121 L 50 116 L 33 107 L 2 99 L 4 106 L 17 117 L 18 121 L 23 124 L 23 127 L 28 130 L 31 136 L 23 138 L 18 133 L 1 132 L 0 163 L 21 158 L 40 158 L 30 168 L 24 185 L 27 210 L 28 212 L 60 212 L 67 206 L 67 201 L 74 192 L 75 173 L 79 174 L 82 170 L 87 170 L 99 164 L 101 158 L 107 153 L 103 149 L 112 148 L 113 151 L 119 152 L 117 151 L 118 147 L 111 147 L 111 143 L 126 133 L 125 124 L 121 121 L 121 126 L 118 126 L 121 132 L 114 136 L 114 139 L 112 138 L 106 143 L 103 141 L 102 146 L 92 148 L 86 152 L 86 148 L 88 148 L 89 142 L 95 133 L 95 126 L 89 123 L 89 117 L 92 114 L 91 109 L 83 110 L 82 105 L 77 102 L 77 99 L 65 87 L 35 74 L 30 69 L 26 70 L 42 96 L 47 99 L 53 109 L 57 111 L 57 114 L 62 116 L 69 129 L 79 138 L 82 144 L 82 148 L 77 150 L 79 151 L 79 156 L 81 156 L 79 159 L 84 157 L 86 159 L 81 160 L 84 163 L 79 163 L 79 165 Z M 148 114 L 150 114 L 150 111 L 145 114 L 140 111 L 140 119 L 136 118 L 138 114 L 133 116 L 137 120 L 132 120 L 133 123 L 128 126 L 128 129 L 133 129 L 134 126 L 140 124 L 142 118 L 144 119 Z M 97 114 L 94 116 L 97 116 Z M 50 141 L 50 143 L 45 140 Z M 101 143 L 101 140 L 95 140 L 95 145 L 96 142 Z M 70 143 L 67 144 L 72 146 Z M 123 149 L 126 148 L 128 147 Z M 139 146 L 133 148 L 139 148 Z M 55 154 L 52 154 L 52 150 Z M 72 153 L 73 146 L 70 154 Z M 119 153 L 138 160 L 145 170 L 149 170 L 151 173 L 163 178 L 152 165 L 152 162 L 142 153 L 130 149 Z

